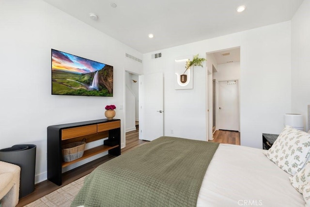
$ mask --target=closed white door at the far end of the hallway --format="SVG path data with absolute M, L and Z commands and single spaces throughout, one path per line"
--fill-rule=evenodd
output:
M 238 80 L 219 81 L 219 129 L 239 131 Z

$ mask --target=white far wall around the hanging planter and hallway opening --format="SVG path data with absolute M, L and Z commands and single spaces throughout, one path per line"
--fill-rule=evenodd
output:
M 291 109 L 291 22 L 282 22 L 174 48 L 163 58 L 144 54 L 144 73 L 164 73 L 165 130 L 169 135 L 206 140 L 206 69 L 194 68 L 194 88 L 174 90 L 174 58 L 241 48 L 241 144 L 262 148 L 262 133 L 279 133 Z M 157 52 L 157 51 L 155 51 Z

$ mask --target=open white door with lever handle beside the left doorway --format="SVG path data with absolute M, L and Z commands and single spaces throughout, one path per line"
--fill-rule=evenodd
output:
M 164 134 L 163 73 L 139 76 L 139 139 L 152 141 Z

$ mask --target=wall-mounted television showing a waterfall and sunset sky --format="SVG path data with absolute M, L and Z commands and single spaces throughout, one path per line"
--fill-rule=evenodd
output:
M 113 66 L 52 49 L 52 95 L 113 96 Z

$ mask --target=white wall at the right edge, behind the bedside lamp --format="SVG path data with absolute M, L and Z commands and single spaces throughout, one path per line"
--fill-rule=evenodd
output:
M 304 116 L 308 123 L 307 105 L 310 105 L 310 0 L 304 0 L 292 18 L 292 111 Z

